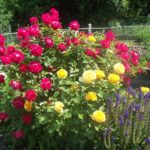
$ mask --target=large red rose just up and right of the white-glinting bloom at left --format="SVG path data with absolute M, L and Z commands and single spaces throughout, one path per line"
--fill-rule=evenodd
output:
M 38 45 L 38 44 L 32 44 L 29 46 L 29 49 L 31 51 L 31 54 L 36 56 L 36 57 L 39 57 L 42 55 L 42 52 L 43 52 L 43 48 Z

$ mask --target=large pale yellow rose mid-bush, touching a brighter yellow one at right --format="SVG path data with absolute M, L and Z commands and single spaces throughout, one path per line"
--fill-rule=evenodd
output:
M 83 73 L 82 80 L 84 83 L 90 84 L 96 80 L 96 73 L 93 70 L 87 70 Z

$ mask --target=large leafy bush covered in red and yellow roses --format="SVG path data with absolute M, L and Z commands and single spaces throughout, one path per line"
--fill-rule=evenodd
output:
M 141 68 L 138 53 L 112 31 L 76 33 L 76 20 L 63 31 L 54 8 L 41 20 L 32 17 L 31 26 L 18 29 L 14 46 L 5 47 L 0 36 L 7 74 L 0 76 L 5 138 L 15 138 L 14 145 L 22 140 L 29 149 L 98 149 L 104 146 L 107 98 L 130 84 Z

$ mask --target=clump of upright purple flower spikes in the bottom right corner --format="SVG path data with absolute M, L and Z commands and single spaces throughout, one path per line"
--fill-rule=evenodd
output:
M 147 88 L 148 89 L 148 88 Z M 150 92 L 128 87 L 107 101 L 104 144 L 111 150 L 150 149 Z

